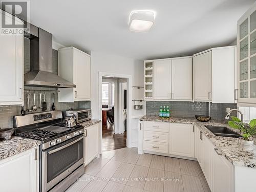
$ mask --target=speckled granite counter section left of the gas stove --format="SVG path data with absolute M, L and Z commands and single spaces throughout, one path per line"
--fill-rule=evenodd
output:
M 10 140 L 0 141 L 0 160 L 27 151 L 40 144 L 41 141 L 16 136 Z

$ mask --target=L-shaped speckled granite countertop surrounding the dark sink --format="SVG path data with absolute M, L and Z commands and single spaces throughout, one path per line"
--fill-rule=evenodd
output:
M 227 158 L 235 166 L 244 166 L 256 168 L 256 145 L 254 146 L 253 151 L 244 151 L 238 145 L 238 138 L 232 137 L 221 137 L 216 136 L 211 133 L 205 125 L 213 126 L 225 126 L 228 129 L 231 129 L 234 132 L 239 133 L 238 130 L 234 130 L 228 126 L 227 123 L 221 121 L 211 120 L 210 122 L 200 122 L 196 118 L 186 118 L 186 117 L 170 117 L 162 118 L 158 116 L 148 116 L 145 115 L 141 121 L 157 121 L 157 122 L 170 122 L 170 123 L 185 123 L 185 124 L 195 124 L 198 126 L 201 132 L 222 152 L 222 155 Z M 254 144 L 256 139 L 254 138 Z

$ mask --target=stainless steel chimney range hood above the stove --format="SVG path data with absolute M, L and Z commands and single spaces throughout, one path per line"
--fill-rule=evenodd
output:
M 30 24 L 30 72 L 24 75 L 25 86 L 76 88 L 76 85 L 59 77 L 52 70 L 52 34 Z

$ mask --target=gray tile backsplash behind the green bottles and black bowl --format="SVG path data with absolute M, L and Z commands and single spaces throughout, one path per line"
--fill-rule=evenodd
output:
M 185 101 L 146 101 L 146 114 L 158 115 L 160 105 L 168 105 L 170 109 L 170 115 L 174 117 L 195 117 L 195 115 L 208 115 L 208 102 Z M 211 103 L 211 118 L 216 120 L 224 120 L 227 114 L 226 108 L 237 109 L 237 104 Z

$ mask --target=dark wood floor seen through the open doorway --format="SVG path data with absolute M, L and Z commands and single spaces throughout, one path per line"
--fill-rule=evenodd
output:
M 126 147 L 126 131 L 124 134 L 114 134 L 114 125 L 109 122 L 102 125 L 102 152 Z

